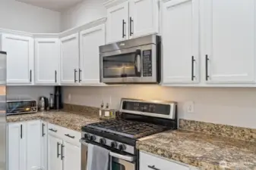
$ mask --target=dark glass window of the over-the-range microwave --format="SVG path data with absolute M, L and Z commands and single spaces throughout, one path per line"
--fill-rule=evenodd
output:
M 103 78 L 141 76 L 136 73 L 136 53 L 103 57 Z

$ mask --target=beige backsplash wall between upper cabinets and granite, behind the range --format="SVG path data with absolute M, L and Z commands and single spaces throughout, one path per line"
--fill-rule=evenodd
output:
M 100 107 L 101 100 L 118 108 L 122 97 L 175 100 L 179 117 L 256 128 L 256 88 L 169 88 L 158 85 L 125 87 L 65 87 L 64 101 Z M 186 112 L 186 103 L 194 101 L 194 113 Z

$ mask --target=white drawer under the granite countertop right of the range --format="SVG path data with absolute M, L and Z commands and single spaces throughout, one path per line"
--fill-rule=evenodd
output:
M 150 168 L 151 167 L 151 168 Z M 169 161 L 165 158 L 160 158 L 158 156 L 153 156 L 151 154 L 140 152 L 140 169 L 143 170 L 189 170 L 189 166 L 182 165 Z

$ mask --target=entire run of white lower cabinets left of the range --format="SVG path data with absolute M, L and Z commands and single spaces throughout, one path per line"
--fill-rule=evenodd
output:
M 80 138 L 41 120 L 8 123 L 8 170 L 81 170 Z

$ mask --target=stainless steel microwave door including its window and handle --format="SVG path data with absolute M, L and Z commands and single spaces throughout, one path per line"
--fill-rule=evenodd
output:
M 141 82 L 141 49 L 127 48 L 100 54 L 100 82 Z

